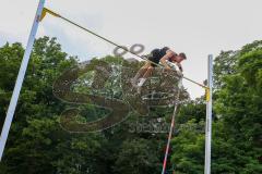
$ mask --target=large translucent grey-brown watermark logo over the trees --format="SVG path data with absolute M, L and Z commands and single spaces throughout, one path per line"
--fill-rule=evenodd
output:
M 139 51 L 144 49 L 140 48 Z M 135 47 L 131 49 L 134 51 Z M 131 79 L 139 64 L 111 58 L 66 71 L 53 84 L 53 95 L 70 104 L 60 115 L 62 128 L 73 133 L 100 132 L 120 124 L 130 113 L 151 116 L 156 108 L 174 105 L 179 90 L 176 72 L 155 69 L 138 92 Z

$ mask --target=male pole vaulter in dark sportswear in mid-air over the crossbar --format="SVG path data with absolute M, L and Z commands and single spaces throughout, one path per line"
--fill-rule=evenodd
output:
M 148 61 L 139 70 L 136 75 L 131 79 L 131 84 L 132 86 L 140 88 L 159 62 L 164 65 L 166 70 L 171 70 L 171 67 L 169 66 L 169 62 L 175 63 L 177 64 L 181 73 L 183 71 L 181 62 L 186 59 L 187 57 L 183 52 L 177 54 L 168 47 L 164 47 L 162 49 L 154 49 L 153 51 L 151 51 Z

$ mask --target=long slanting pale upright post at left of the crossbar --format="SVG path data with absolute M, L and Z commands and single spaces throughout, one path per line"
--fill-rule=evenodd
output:
M 39 24 L 39 20 L 40 20 L 40 16 L 41 16 L 41 11 L 44 9 L 45 1 L 46 0 L 39 0 L 38 8 L 37 8 L 37 11 L 36 11 L 36 15 L 35 15 L 35 20 L 34 20 L 34 23 L 33 23 L 33 26 L 32 26 L 32 29 L 31 29 L 31 34 L 29 34 L 29 38 L 28 38 L 28 41 L 27 41 L 26 50 L 25 50 L 25 53 L 24 53 L 24 57 L 23 57 L 23 60 L 22 60 L 22 63 L 21 63 L 21 66 L 20 66 L 20 71 L 19 71 L 19 75 L 17 75 L 16 83 L 15 83 L 15 86 L 14 86 L 13 95 L 12 95 L 12 98 L 11 98 L 11 101 L 10 101 L 10 104 L 9 104 L 9 109 L 8 109 L 8 113 L 7 113 L 7 116 L 5 116 L 5 121 L 4 121 L 4 124 L 3 124 L 3 127 L 2 127 L 2 133 L 1 133 L 1 137 L 0 137 L 0 161 L 2 159 L 4 146 L 5 146 L 5 142 L 7 142 L 7 139 L 8 139 L 8 135 L 9 135 L 9 130 L 10 130 L 11 123 L 12 123 L 12 120 L 13 120 L 14 111 L 15 111 L 15 108 L 16 108 L 16 104 L 17 104 L 20 91 L 21 91 L 23 80 L 24 80 L 24 76 L 25 76 L 25 72 L 26 72 L 26 69 L 27 69 L 27 65 L 28 65 L 29 55 L 31 55 L 32 48 L 33 48 L 33 45 L 34 45 L 34 41 L 35 41 L 35 35 L 36 35 L 36 32 L 37 32 L 37 28 L 38 28 L 38 24 Z

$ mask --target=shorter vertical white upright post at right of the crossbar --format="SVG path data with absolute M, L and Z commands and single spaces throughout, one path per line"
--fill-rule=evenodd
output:
M 205 120 L 205 174 L 211 174 L 211 139 L 212 139 L 212 86 L 213 86 L 213 55 L 207 60 L 207 92 Z

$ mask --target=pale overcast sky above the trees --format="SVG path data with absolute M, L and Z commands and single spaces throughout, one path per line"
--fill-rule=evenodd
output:
M 0 0 L 0 47 L 7 41 L 26 46 L 37 4 L 37 0 Z M 164 46 L 186 52 L 183 74 L 200 83 L 207 76 L 209 54 L 262 39 L 261 0 L 47 0 L 45 7 L 119 45 L 142 44 L 144 54 Z M 63 51 L 81 61 L 112 54 L 115 49 L 50 15 L 40 23 L 36 38 L 43 36 L 57 37 Z M 192 83 L 183 85 L 191 98 L 204 94 Z

